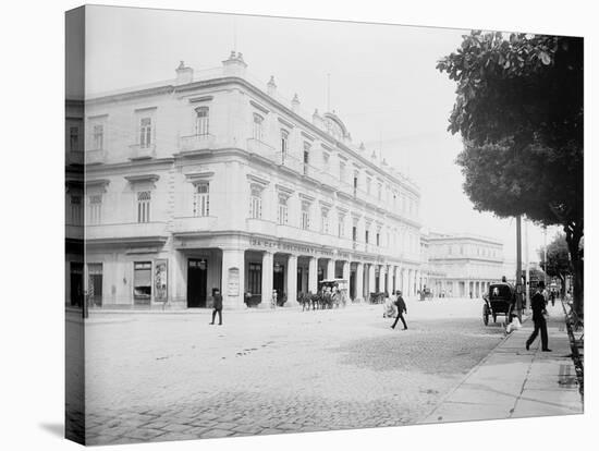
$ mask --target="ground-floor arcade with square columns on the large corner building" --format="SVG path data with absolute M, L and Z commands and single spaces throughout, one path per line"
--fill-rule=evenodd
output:
M 78 266 L 77 266 L 78 269 Z M 84 268 L 91 307 L 210 307 L 220 290 L 225 308 L 285 305 L 318 290 L 323 279 L 345 279 L 347 297 L 402 290 L 416 295 L 425 280 L 416 263 L 381 255 L 245 236 L 179 237 L 157 247 L 90 248 Z

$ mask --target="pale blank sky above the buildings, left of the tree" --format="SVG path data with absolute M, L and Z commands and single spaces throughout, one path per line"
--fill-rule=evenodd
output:
M 364 142 L 420 187 L 425 231 L 494 237 L 505 259 L 515 258 L 515 220 L 473 209 L 454 163 L 462 142 L 447 131 L 455 83 L 435 68 L 468 31 L 88 8 L 88 93 L 173 78 L 180 60 L 196 71 L 216 68 L 235 49 L 254 77 L 266 83 L 273 75 L 279 92 L 297 94 L 303 109 L 327 111 L 330 98 L 355 144 Z M 548 242 L 557 231 L 548 230 Z M 543 233 L 530 223 L 527 235 L 536 261 Z

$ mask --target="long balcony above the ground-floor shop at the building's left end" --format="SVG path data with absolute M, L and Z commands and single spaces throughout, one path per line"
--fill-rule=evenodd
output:
M 85 239 L 89 243 L 154 243 L 167 241 L 166 222 L 132 222 L 86 226 Z

